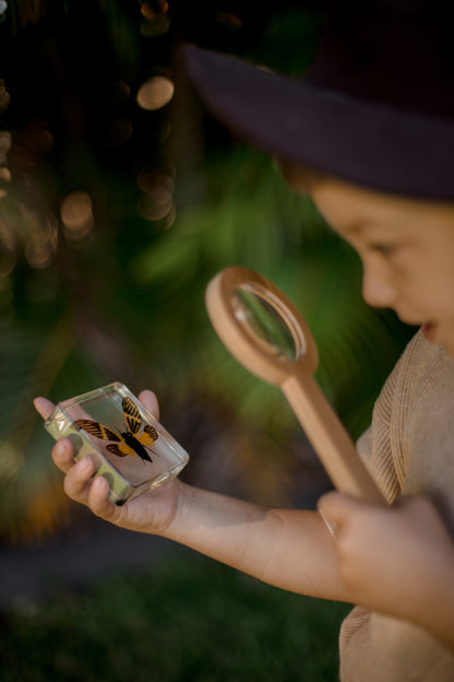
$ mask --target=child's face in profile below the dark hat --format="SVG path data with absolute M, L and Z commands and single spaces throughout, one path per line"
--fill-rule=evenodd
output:
M 324 176 L 302 181 L 325 220 L 358 251 L 365 301 L 422 325 L 427 338 L 454 358 L 454 204 L 383 195 Z M 302 189 L 294 176 L 291 185 Z

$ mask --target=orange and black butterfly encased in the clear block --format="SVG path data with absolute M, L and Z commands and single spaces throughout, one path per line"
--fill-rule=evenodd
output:
M 139 455 L 144 461 L 152 462 L 146 448 L 152 446 L 158 438 L 158 433 L 154 426 L 145 424 L 142 433 L 142 416 L 138 408 L 130 398 L 123 398 L 122 403 L 123 416 L 127 425 L 127 430 L 116 433 L 111 428 L 108 428 L 99 422 L 93 422 L 92 420 L 75 420 L 74 424 L 77 428 L 86 431 L 92 436 L 101 438 L 103 440 L 111 440 L 106 448 L 109 452 L 118 455 L 118 457 L 126 457 L 127 455 Z

